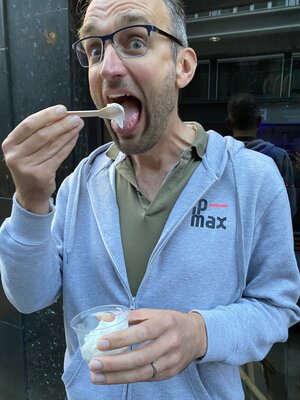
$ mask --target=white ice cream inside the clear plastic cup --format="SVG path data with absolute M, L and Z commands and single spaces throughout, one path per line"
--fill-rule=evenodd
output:
M 102 336 L 128 328 L 128 321 L 126 318 L 124 319 L 123 314 L 105 313 L 97 317 L 97 319 L 99 318 L 101 318 L 101 320 L 98 325 L 85 336 L 84 344 L 81 347 L 82 357 L 87 362 L 95 356 L 117 354 L 127 349 L 126 347 L 109 351 L 100 351 L 97 349 L 98 340 Z

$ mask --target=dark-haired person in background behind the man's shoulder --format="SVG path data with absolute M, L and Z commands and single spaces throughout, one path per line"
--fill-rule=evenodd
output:
M 232 130 L 232 135 L 242 141 L 248 149 L 259 151 L 273 158 L 284 180 L 291 213 L 294 217 L 297 213 L 296 189 L 294 184 L 293 166 L 288 153 L 276 147 L 273 143 L 258 139 L 258 129 L 261 123 L 261 115 L 254 97 L 248 93 L 238 93 L 232 96 L 228 102 L 227 123 Z

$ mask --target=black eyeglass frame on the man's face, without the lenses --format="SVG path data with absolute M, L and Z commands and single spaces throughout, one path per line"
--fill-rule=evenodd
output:
M 79 39 L 79 40 L 77 40 L 75 43 L 73 43 L 73 44 L 72 44 L 72 49 L 75 51 L 80 65 L 81 65 L 83 68 L 89 68 L 89 67 L 90 67 L 90 65 L 83 65 L 83 64 L 81 63 L 81 61 L 80 61 L 79 54 L 78 54 L 78 52 L 77 52 L 77 50 L 76 50 L 79 43 L 81 43 L 82 41 L 84 41 L 84 40 L 86 40 L 86 39 L 93 39 L 93 38 L 98 38 L 98 39 L 100 39 L 100 40 L 102 41 L 103 52 L 102 52 L 101 59 L 100 59 L 97 63 L 93 64 L 93 65 L 97 65 L 97 64 L 100 64 L 100 63 L 102 62 L 102 60 L 103 60 L 105 42 L 106 42 L 107 40 L 111 40 L 111 41 L 114 43 L 114 35 L 115 35 L 116 33 L 121 32 L 121 31 L 125 31 L 126 29 L 129 29 L 129 28 L 145 28 L 145 29 L 147 29 L 147 31 L 148 31 L 148 38 L 150 38 L 150 33 L 151 33 L 151 32 L 157 32 L 157 33 L 159 33 L 160 35 L 163 35 L 163 36 L 165 36 L 165 37 L 171 39 L 173 42 L 179 44 L 179 46 L 184 47 L 184 46 L 183 46 L 183 43 L 181 42 L 181 40 L 177 39 L 175 36 L 171 35 L 170 33 L 163 31 L 162 29 L 158 28 L 158 27 L 155 26 L 155 25 L 147 25 L 147 24 L 129 25 L 129 26 L 126 26 L 125 28 L 118 29 L 117 31 L 115 31 L 115 32 L 113 32 L 113 33 L 110 33 L 110 34 L 108 34 L 108 35 L 104 35 L 104 36 L 100 36 L 100 35 L 87 36 L 87 37 L 82 38 L 82 39 Z M 139 55 L 139 56 L 128 56 L 128 57 L 123 57 L 123 56 L 121 55 L 121 57 L 122 57 L 122 58 L 136 58 L 136 57 L 141 57 L 141 56 L 145 55 L 145 54 L 147 53 L 148 50 L 149 50 L 149 46 L 148 46 L 146 52 L 145 52 L 144 54 Z M 118 53 L 118 54 L 119 54 L 119 53 Z

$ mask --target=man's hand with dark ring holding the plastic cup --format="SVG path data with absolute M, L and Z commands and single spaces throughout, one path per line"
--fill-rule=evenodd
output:
M 139 347 L 92 359 L 92 383 L 168 379 L 206 352 L 206 329 L 200 314 L 141 309 L 130 312 L 129 323 L 130 328 L 101 338 L 98 348 L 105 351 L 136 344 Z

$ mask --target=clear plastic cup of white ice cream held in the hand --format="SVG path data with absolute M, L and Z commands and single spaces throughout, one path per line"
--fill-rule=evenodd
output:
M 89 362 L 95 356 L 111 355 L 127 350 L 100 351 L 98 340 L 112 332 L 128 328 L 128 308 L 119 305 L 106 305 L 90 308 L 77 314 L 71 321 L 71 328 L 77 334 L 83 359 Z

